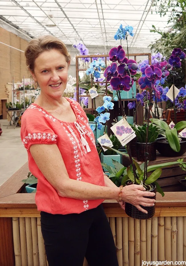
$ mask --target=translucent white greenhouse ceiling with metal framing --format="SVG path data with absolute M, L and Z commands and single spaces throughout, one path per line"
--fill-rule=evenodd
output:
M 168 31 L 168 14 L 160 17 L 154 0 L 7 0 L 0 1 L 0 23 L 24 39 L 51 34 L 73 45 L 116 46 L 114 35 L 120 24 L 134 28 L 129 47 L 147 48 L 159 34 L 152 25 Z M 50 14 L 53 18 L 50 18 Z M 48 20 L 54 27 L 48 25 Z M 52 22 L 53 21 L 53 22 Z M 30 36 L 30 37 L 29 37 Z M 126 40 L 122 43 L 125 44 Z

